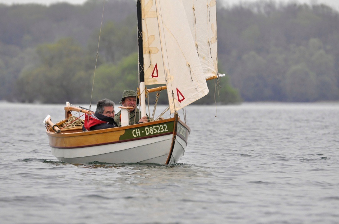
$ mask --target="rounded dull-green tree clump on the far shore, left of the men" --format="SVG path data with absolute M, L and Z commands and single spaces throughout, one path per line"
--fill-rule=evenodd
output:
M 37 68 L 23 72 L 17 80 L 17 97 L 22 102 L 61 103 L 85 99 L 88 73 L 84 70 L 81 45 L 71 38 L 37 47 L 41 61 Z M 81 94 L 79 94 L 81 93 Z

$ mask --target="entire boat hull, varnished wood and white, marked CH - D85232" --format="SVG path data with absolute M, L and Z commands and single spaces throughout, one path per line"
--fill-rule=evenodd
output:
M 189 134 L 190 128 L 177 116 L 86 132 L 47 129 L 52 154 L 65 163 L 177 163 L 185 153 Z

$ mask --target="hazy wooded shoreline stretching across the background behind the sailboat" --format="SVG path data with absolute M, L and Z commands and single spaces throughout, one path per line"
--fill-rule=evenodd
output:
M 0 4 L 0 100 L 117 101 L 136 89 L 134 1 Z M 220 83 L 197 103 L 339 100 L 339 13 L 273 1 L 219 7 Z M 215 94 L 216 90 L 216 94 Z M 163 93 L 162 93 L 163 94 Z M 166 103 L 162 96 L 159 103 Z

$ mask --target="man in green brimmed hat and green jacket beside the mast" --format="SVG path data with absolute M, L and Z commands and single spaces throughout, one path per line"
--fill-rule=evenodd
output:
M 137 98 L 137 93 L 134 90 L 125 90 L 122 93 L 122 98 L 120 100 L 122 106 L 131 106 L 132 109 L 129 109 L 129 124 L 137 124 L 151 121 L 148 116 L 141 118 L 141 111 L 137 108 L 139 104 L 139 99 Z M 121 110 L 114 116 L 114 121 L 121 126 Z

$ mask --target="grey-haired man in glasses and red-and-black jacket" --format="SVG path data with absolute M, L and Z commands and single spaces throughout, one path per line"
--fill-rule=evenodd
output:
M 94 114 L 85 114 L 85 124 L 82 127 L 83 131 L 92 131 L 106 128 L 118 127 L 114 121 L 114 102 L 109 99 L 99 100 L 97 109 Z

